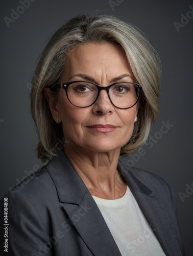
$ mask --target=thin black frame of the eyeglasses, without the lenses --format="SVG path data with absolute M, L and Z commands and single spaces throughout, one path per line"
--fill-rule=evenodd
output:
M 54 86 L 47 86 L 47 88 L 50 88 L 51 91 L 56 91 L 56 90 L 62 88 L 62 89 L 65 90 L 66 96 L 67 96 L 67 98 L 68 98 L 67 89 L 68 89 L 68 87 L 70 86 L 71 83 L 76 83 L 76 82 L 91 83 L 91 84 L 93 84 L 94 86 L 96 86 L 96 87 L 98 88 L 98 95 L 96 96 L 94 102 L 93 102 L 92 104 L 88 105 L 88 106 L 91 106 L 91 105 L 93 105 L 93 104 L 96 102 L 96 100 L 98 99 L 99 94 L 100 94 L 100 92 L 101 92 L 102 90 L 105 90 L 105 91 L 107 92 L 108 97 L 109 97 L 109 100 L 110 100 L 110 102 L 113 104 L 113 102 L 112 102 L 112 100 L 111 100 L 111 97 L 110 97 L 110 94 L 109 94 L 109 89 L 110 89 L 112 86 L 114 86 L 115 84 L 120 84 L 120 83 L 121 83 L 121 84 L 123 84 L 123 83 L 132 83 L 132 84 L 134 84 L 134 85 L 138 88 L 138 90 L 139 90 L 139 93 L 138 93 L 137 100 L 136 100 L 135 104 L 133 104 L 132 106 L 129 106 L 129 108 L 119 108 L 118 106 L 116 106 L 115 104 L 113 104 L 113 106 L 115 106 L 115 107 L 118 108 L 118 109 L 130 109 L 130 108 L 132 108 L 134 105 L 137 104 L 137 102 L 138 102 L 138 100 L 139 100 L 139 98 L 140 98 L 140 96 L 141 96 L 141 92 L 142 92 L 142 87 L 141 87 L 141 85 L 138 84 L 138 83 L 134 83 L 134 82 L 115 82 L 115 83 L 110 84 L 110 86 L 102 87 L 102 86 L 99 86 L 98 84 L 96 84 L 96 83 L 94 83 L 94 82 L 88 82 L 88 81 L 72 81 L 72 82 L 66 82 L 66 83 L 56 83 L 56 84 L 54 84 Z M 68 98 L 68 100 L 69 100 L 69 98 Z M 71 104 L 73 104 L 70 100 L 69 100 L 69 102 L 70 102 Z M 77 105 L 75 105 L 75 104 L 73 104 L 73 105 L 74 105 L 74 106 L 77 106 Z M 77 108 L 88 108 L 88 106 L 77 106 Z

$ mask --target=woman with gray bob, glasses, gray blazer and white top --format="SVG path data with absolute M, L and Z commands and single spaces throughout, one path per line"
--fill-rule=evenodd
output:
M 168 185 L 119 160 L 148 137 L 159 78 L 148 41 L 115 17 L 79 16 L 52 36 L 31 92 L 49 162 L 6 196 L 6 255 L 184 255 Z

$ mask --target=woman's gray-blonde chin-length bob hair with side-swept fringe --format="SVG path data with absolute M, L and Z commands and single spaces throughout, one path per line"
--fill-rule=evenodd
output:
M 136 81 L 141 84 L 137 122 L 131 139 L 120 154 L 129 154 L 146 142 L 159 110 L 160 60 L 141 33 L 123 20 L 109 15 L 77 16 L 61 26 L 47 42 L 32 79 L 31 112 L 39 134 L 38 158 L 45 162 L 64 144 L 61 123 L 53 118 L 44 95 L 46 86 L 61 77 L 70 50 L 82 44 L 111 42 L 125 51 Z M 57 92 L 53 95 L 57 100 Z M 66 120 L 67 122 L 68 120 Z

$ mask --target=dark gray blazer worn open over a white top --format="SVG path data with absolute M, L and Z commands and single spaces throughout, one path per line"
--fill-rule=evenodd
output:
M 165 254 L 185 255 L 173 196 L 165 181 L 121 161 L 118 170 Z M 5 242 L 2 199 L 1 255 L 121 255 L 98 206 L 62 152 L 5 197 L 8 198 L 8 252 L 2 246 Z M 128 255 L 132 253 L 128 251 Z

